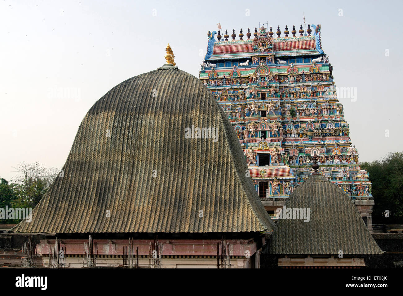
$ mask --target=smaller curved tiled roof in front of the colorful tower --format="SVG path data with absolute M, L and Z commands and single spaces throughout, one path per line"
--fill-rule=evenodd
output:
M 351 199 L 336 184 L 311 175 L 285 203 L 310 209 L 310 221 L 279 219 L 270 253 L 281 255 L 377 255 L 384 253 L 368 231 Z

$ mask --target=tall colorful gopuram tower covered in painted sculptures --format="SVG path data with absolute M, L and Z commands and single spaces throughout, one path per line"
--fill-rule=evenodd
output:
M 296 186 L 308 178 L 312 156 L 319 172 L 351 196 L 372 230 L 371 182 L 351 145 L 332 66 L 322 50 L 320 25 L 299 35 L 280 27 L 249 28 L 246 38 L 208 32 L 200 80 L 233 125 L 250 177 L 272 219 Z M 274 37 L 274 33 L 277 37 Z M 248 173 L 247 173 L 248 174 Z

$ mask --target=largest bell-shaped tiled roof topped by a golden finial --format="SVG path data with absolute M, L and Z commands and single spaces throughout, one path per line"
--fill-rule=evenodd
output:
M 185 138 L 192 125 L 218 128 L 218 141 Z M 81 122 L 63 170 L 32 221 L 15 232 L 260 232 L 274 226 L 245 177 L 231 124 L 202 82 L 177 67 L 132 77 L 99 99 Z

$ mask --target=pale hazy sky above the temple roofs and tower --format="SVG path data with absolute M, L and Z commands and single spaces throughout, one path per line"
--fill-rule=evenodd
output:
M 22 161 L 61 168 L 89 108 L 162 66 L 167 43 L 177 66 L 198 77 L 217 23 L 246 37 L 267 22 L 298 31 L 304 15 L 321 24 L 335 86 L 356 95 L 339 100 L 359 160 L 402 151 L 403 2 L 315 3 L 0 0 L 0 177 L 17 176 Z

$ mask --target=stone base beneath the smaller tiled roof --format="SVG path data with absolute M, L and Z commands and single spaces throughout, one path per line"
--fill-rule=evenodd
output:
M 288 267 L 365 267 L 364 258 L 334 256 L 324 257 L 288 257 L 278 258 L 278 266 Z

